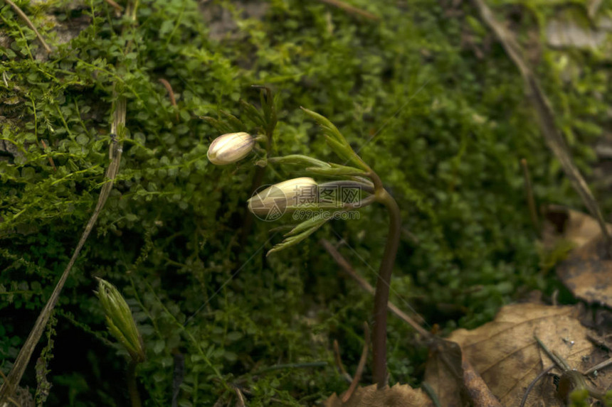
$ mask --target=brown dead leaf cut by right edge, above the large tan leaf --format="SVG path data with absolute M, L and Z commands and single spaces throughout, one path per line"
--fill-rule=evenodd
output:
M 612 259 L 601 236 L 579 249 L 556 268 L 556 274 L 572 294 L 588 303 L 612 307 Z

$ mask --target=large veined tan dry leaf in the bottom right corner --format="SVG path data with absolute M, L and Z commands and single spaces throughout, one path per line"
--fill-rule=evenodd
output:
M 577 317 L 575 307 L 507 305 L 494 321 L 475 330 L 456 330 L 448 339 L 460 345 L 465 359 L 473 365 L 502 406 L 516 407 L 537 374 L 552 364 L 534 335 L 579 371 L 586 371 L 607 359 L 606 352 L 589 341 L 586 336 L 589 330 L 580 324 Z M 457 381 L 448 372 L 440 370 L 443 366 L 439 361 L 433 361 L 433 367 L 429 364 L 426 381 L 438 392 L 440 403 L 443 406 L 461 406 L 456 396 L 450 398 L 453 391 L 459 391 Z M 608 389 L 612 384 L 612 372 L 600 371 L 592 384 L 598 389 Z M 525 404 L 564 405 L 549 377 L 544 377 L 535 386 Z

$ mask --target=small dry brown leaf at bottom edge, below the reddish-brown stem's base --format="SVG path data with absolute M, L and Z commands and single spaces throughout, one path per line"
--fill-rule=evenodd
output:
M 376 384 L 358 387 L 349 401 L 342 403 L 335 393 L 324 404 L 325 407 L 433 407 L 431 399 L 421 390 L 407 384 L 376 389 Z

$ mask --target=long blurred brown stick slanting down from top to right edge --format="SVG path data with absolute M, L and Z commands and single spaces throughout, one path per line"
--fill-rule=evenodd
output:
M 603 234 L 604 239 L 606 239 L 606 248 L 609 256 L 612 251 L 612 237 L 606 228 L 606 222 L 603 221 L 603 216 L 601 215 L 599 205 L 597 204 L 595 197 L 593 197 L 593 194 L 589 189 L 589 185 L 586 185 L 586 181 L 582 177 L 578 168 L 576 168 L 576 165 L 574 165 L 574 162 L 571 160 L 566 143 L 561 136 L 559 129 L 556 128 L 554 112 L 552 111 L 550 102 L 542 91 L 542 87 L 540 87 L 539 82 L 532 70 L 523 60 L 522 49 L 512 33 L 507 31 L 507 29 L 502 26 L 499 21 L 497 21 L 497 18 L 493 16 L 491 9 L 489 9 L 483 0 L 473 0 L 473 2 L 480 13 L 482 21 L 484 21 L 487 26 L 492 29 L 495 36 L 497 36 L 500 43 L 502 43 L 504 49 L 510 56 L 510 59 L 512 59 L 521 72 L 524 80 L 525 91 L 527 92 L 532 106 L 537 112 L 539 127 L 544 135 L 544 140 L 561 163 L 561 167 L 571 181 L 571 184 L 574 186 L 576 192 L 578 192 L 582 198 L 584 205 L 586 205 L 587 209 L 589 209 L 591 215 L 597 219 L 601 229 L 601 234 Z

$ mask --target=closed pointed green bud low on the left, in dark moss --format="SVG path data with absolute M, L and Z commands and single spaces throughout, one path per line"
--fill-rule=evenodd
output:
M 144 361 L 144 344 L 123 295 L 108 281 L 98 278 L 97 298 L 106 315 L 110 334 L 127 350 L 134 362 Z

